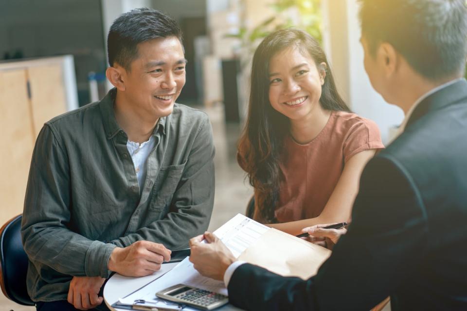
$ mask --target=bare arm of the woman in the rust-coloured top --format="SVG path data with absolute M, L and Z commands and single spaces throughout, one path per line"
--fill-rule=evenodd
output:
M 305 227 L 347 221 L 350 218 L 355 197 L 359 192 L 361 172 L 366 163 L 373 158 L 376 150 L 361 151 L 347 160 L 334 191 L 318 217 L 267 226 L 297 235 L 302 233 L 302 229 Z

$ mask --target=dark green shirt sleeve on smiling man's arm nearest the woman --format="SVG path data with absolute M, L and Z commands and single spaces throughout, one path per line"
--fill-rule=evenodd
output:
M 126 247 L 141 240 L 161 243 L 169 249 L 188 246 L 188 240 L 209 225 L 214 205 L 214 143 L 206 116 L 198 128 L 183 175 L 172 199 L 171 212 L 163 219 L 111 243 Z

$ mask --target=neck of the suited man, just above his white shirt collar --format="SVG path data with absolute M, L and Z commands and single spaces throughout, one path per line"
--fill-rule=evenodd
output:
M 399 90 L 403 91 L 398 92 L 400 100 L 396 105 L 404 111 L 404 115 L 407 115 L 412 106 L 415 105 L 422 96 L 443 84 L 459 78 L 460 76 L 452 76 L 437 81 L 430 81 L 418 75 L 417 77 L 408 78 L 406 82 L 401 83 L 403 87 L 399 88 Z

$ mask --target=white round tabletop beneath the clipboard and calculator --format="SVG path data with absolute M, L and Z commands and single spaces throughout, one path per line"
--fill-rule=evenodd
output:
M 114 274 L 111 278 L 108 279 L 106 285 L 104 286 L 104 301 L 106 302 L 107 307 L 112 311 L 128 311 L 126 309 L 116 309 L 112 305 L 117 302 L 120 298 L 123 298 L 134 291 L 140 289 L 150 281 L 155 278 L 159 278 L 161 275 L 172 270 L 178 262 L 164 263 L 161 266 L 161 270 L 155 272 L 154 274 L 141 277 L 141 278 L 128 278 L 119 274 Z M 222 308 L 216 309 L 216 311 L 242 311 L 231 304 L 228 304 Z

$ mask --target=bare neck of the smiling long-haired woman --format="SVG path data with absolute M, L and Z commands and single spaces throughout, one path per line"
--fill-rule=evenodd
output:
M 307 144 L 323 131 L 330 115 L 331 111 L 323 109 L 321 104 L 318 104 L 305 118 L 290 120 L 290 134 L 297 143 Z

